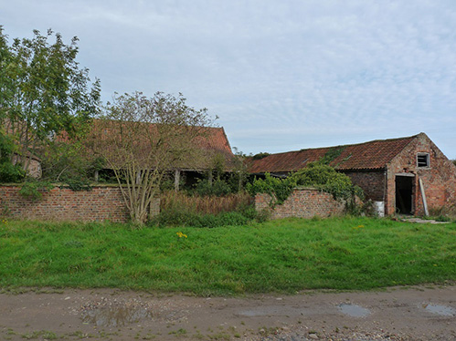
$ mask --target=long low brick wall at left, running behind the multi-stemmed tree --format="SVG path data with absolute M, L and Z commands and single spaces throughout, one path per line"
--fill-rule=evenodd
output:
M 151 207 L 152 214 L 160 212 L 160 199 Z M 93 186 L 92 191 L 71 191 L 55 187 L 44 192 L 38 201 L 25 199 L 19 187 L 0 186 L 0 210 L 16 219 L 51 221 L 127 222 L 129 212 L 117 186 Z

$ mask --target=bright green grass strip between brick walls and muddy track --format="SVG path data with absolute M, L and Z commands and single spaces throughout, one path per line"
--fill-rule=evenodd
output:
M 0 222 L 1 287 L 209 295 L 455 280 L 454 222 L 348 217 L 141 230 L 110 223 Z

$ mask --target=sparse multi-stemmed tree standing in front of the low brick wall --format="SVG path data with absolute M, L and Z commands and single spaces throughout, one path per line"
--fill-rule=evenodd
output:
M 143 224 L 160 185 L 170 171 L 201 160 L 195 140 L 213 123 L 207 109 L 186 105 L 157 92 L 116 96 L 105 115 L 93 122 L 88 145 L 114 172 L 132 222 Z

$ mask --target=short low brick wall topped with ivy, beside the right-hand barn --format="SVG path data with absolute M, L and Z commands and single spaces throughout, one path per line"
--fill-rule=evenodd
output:
M 272 219 L 288 217 L 313 218 L 314 216 L 329 217 L 341 215 L 345 211 L 345 203 L 337 202 L 333 195 L 324 191 L 311 188 L 298 188 L 281 205 L 276 205 L 273 210 L 269 206 L 270 195 L 257 194 L 255 208 L 257 211 L 270 210 Z

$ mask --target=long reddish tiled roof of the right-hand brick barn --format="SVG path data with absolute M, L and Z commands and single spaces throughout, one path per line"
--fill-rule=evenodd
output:
M 408 138 L 373 140 L 345 146 L 296 150 L 271 154 L 250 162 L 250 173 L 298 171 L 310 162 L 325 155 L 336 156 L 329 164 L 337 170 L 379 170 L 386 167 L 408 143 L 417 136 Z

